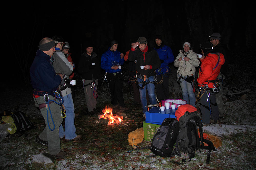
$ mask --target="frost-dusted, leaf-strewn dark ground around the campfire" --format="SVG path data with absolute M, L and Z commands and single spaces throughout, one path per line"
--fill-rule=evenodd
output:
M 75 74 L 77 80 L 75 90 L 76 133 L 82 135 L 77 141 L 61 140 L 61 149 L 68 153 L 66 159 L 51 160 L 42 153 L 48 148 L 35 142 L 35 137 L 44 129 L 45 123 L 40 111 L 35 107 L 31 87 L 11 88 L 4 86 L 1 94 L 0 112 L 4 110 L 22 111 L 29 116 L 36 129 L 27 131 L 27 136 L 13 134 L 0 139 L 0 169 L 255 169 L 256 164 L 256 102 L 255 102 L 255 61 L 250 66 L 241 62 L 253 58 L 255 54 L 246 55 L 232 53 L 228 76 L 223 87 L 223 104 L 226 110 L 219 124 L 203 127 L 205 133 L 214 135 L 221 140 L 217 151 L 211 152 L 210 164 L 206 164 L 207 151 L 199 150 L 190 162 L 178 164 L 188 155 L 182 157 L 162 158 L 153 155 L 150 149 L 133 150 L 128 145 L 128 134 L 143 126 L 140 105 L 133 106 L 133 92 L 127 79 L 127 66 L 122 67 L 124 100 L 131 112 L 121 124 L 103 125 L 98 123 L 98 115 L 106 105 L 111 106 L 109 90 L 103 81 L 98 87 L 97 110 L 88 114 L 81 76 Z M 172 65 L 169 79 L 170 99 L 182 99 L 181 89 L 176 82 L 177 68 Z M 197 69 L 198 70 L 198 69 Z M 244 93 L 243 93 L 244 92 Z M 241 94 L 240 94 L 241 93 Z M 197 92 L 196 92 L 197 94 Z M 197 108 L 200 113 L 200 103 Z M 118 111 L 118 109 L 116 110 Z M 0 125 L 1 126 L 1 125 Z M 143 140 L 138 148 L 150 146 Z

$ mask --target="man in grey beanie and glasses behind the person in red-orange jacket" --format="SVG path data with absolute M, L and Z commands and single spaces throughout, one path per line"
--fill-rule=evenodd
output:
M 228 54 L 228 50 L 226 48 L 226 46 L 224 46 L 221 43 L 221 35 L 220 33 L 213 33 L 211 34 L 211 36 L 209 36 L 210 38 L 210 42 L 212 43 L 212 45 L 214 46 L 214 52 L 215 53 L 222 53 L 224 55 L 225 58 L 225 63 L 223 64 L 223 66 L 221 66 L 220 69 L 220 74 L 218 75 L 218 79 L 221 80 L 220 82 L 220 92 L 218 94 L 216 94 L 216 102 L 218 104 L 219 107 L 219 116 L 220 118 L 222 118 L 224 116 L 225 113 L 225 109 L 223 106 L 223 101 L 222 101 L 222 96 L 223 96 L 223 81 L 225 80 L 226 76 L 227 76 L 227 68 L 228 68 L 228 61 L 229 61 L 229 54 Z

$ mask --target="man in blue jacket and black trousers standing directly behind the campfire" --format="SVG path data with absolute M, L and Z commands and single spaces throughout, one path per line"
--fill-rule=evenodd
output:
M 109 86 L 113 108 L 120 105 L 120 110 L 131 111 L 124 104 L 124 95 L 122 91 L 122 70 L 124 63 L 124 54 L 117 50 L 118 42 L 112 40 L 109 49 L 101 56 L 101 68 L 106 71 L 106 81 Z

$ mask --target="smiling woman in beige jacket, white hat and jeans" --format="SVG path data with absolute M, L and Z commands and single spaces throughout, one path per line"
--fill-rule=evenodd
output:
M 179 67 L 177 71 L 177 81 L 180 83 L 182 89 L 183 100 L 187 101 L 187 104 L 191 104 L 196 107 L 196 97 L 193 92 L 194 79 L 195 79 L 195 67 L 199 66 L 199 60 L 197 54 L 190 48 L 190 43 L 185 42 L 183 44 L 183 50 L 179 51 L 174 66 Z

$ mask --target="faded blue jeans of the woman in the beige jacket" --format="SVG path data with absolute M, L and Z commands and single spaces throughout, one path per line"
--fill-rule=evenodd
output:
M 192 82 L 192 85 L 194 86 L 193 82 Z M 182 83 L 180 83 L 183 100 L 186 100 L 187 104 L 190 104 L 190 105 L 196 107 L 196 105 L 195 105 L 196 96 L 193 93 L 192 85 L 191 85 L 191 83 L 186 82 L 186 80 L 184 80 Z

